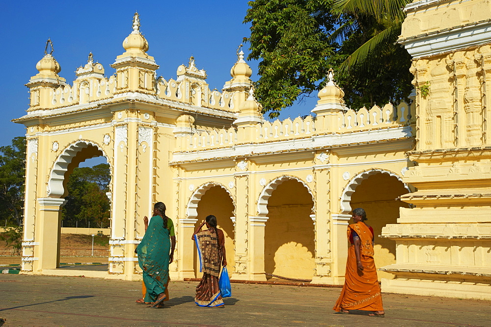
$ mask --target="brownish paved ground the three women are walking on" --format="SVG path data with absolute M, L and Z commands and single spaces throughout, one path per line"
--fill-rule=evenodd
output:
M 23 325 L 491 326 L 489 302 L 384 294 L 385 318 L 331 310 L 341 289 L 232 284 L 225 308 L 194 304 L 196 282 L 171 282 L 163 309 L 134 302 L 141 282 L 0 275 L 0 317 Z

